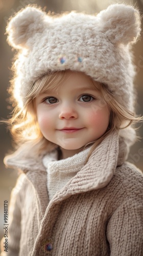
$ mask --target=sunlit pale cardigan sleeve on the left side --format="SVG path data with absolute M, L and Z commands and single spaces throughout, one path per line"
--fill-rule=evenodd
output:
M 21 211 L 20 211 L 20 188 L 23 175 L 17 180 L 16 186 L 11 193 L 10 205 L 8 209 L 8 252 L 4 251 L 4 239 L 1 241 L 1 256 L 18 256 L 19 242 L 21 234 Z

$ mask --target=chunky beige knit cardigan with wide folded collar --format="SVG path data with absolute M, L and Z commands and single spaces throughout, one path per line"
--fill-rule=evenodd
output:
M 143 255 L 143 177 L 110 134 L 49 202 L 42 158 L 17 153 L 8 253 L 2 256 Z M 122 149 L 122 150 L 121 150 Z

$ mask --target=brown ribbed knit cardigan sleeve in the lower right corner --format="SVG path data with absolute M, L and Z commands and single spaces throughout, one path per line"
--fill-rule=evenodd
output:
M 141 198 L 126 200 L 112 215 L 107 226 L 110 256 L 142 256 L 143 204 Z

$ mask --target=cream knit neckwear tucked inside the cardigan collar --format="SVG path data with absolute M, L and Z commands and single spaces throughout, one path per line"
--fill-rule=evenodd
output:
M 47 171 L 47 190 L 50 200 L 85 165 L 89 150 L 90 147 L 63 160 L 57 160 L 57 150 L 43 157 L 43 165 Z

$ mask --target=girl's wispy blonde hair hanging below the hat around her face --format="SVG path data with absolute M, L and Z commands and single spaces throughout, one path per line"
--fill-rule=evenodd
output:
M 46 91 L 47 88 L 52 88 L 52 90 L 59 88 L 64 81 L 65 72 L 66 71 L 57 71 L 40 76 L 29 90 L 25 106 L 21 109 L 19 109 L 18 106 L 15 107 L 12 113 L 13 116 L 9 120 L 9 124 L 11 134 L 17 146 L 30 141 L 31 146 L 36 148 L 37 154 L 43 150 L 53 150 L 53 148 L 57 146 L 52 142 L 47 141 L 40 132 L 36 117 L 35 98 L 40 93 Z M 141 120 L 141 117 L 129 112 L 120 102 L 115 100 L 113 93 L 109 90 L 106 84 L 100 83 L 101 86 L 99 89 L 97 88 L 98 82 L 93 81 L 92 79 L 91 81 L 93 86 L 100 91 L 104 101 L 110 109 L 110 120 L 104 135 L 102 135 L 98 140 L 85 145 L 88 146 L 92 144 L 89 156 L 112 131 L 120 131 L 132 123 L 136 123 Z

